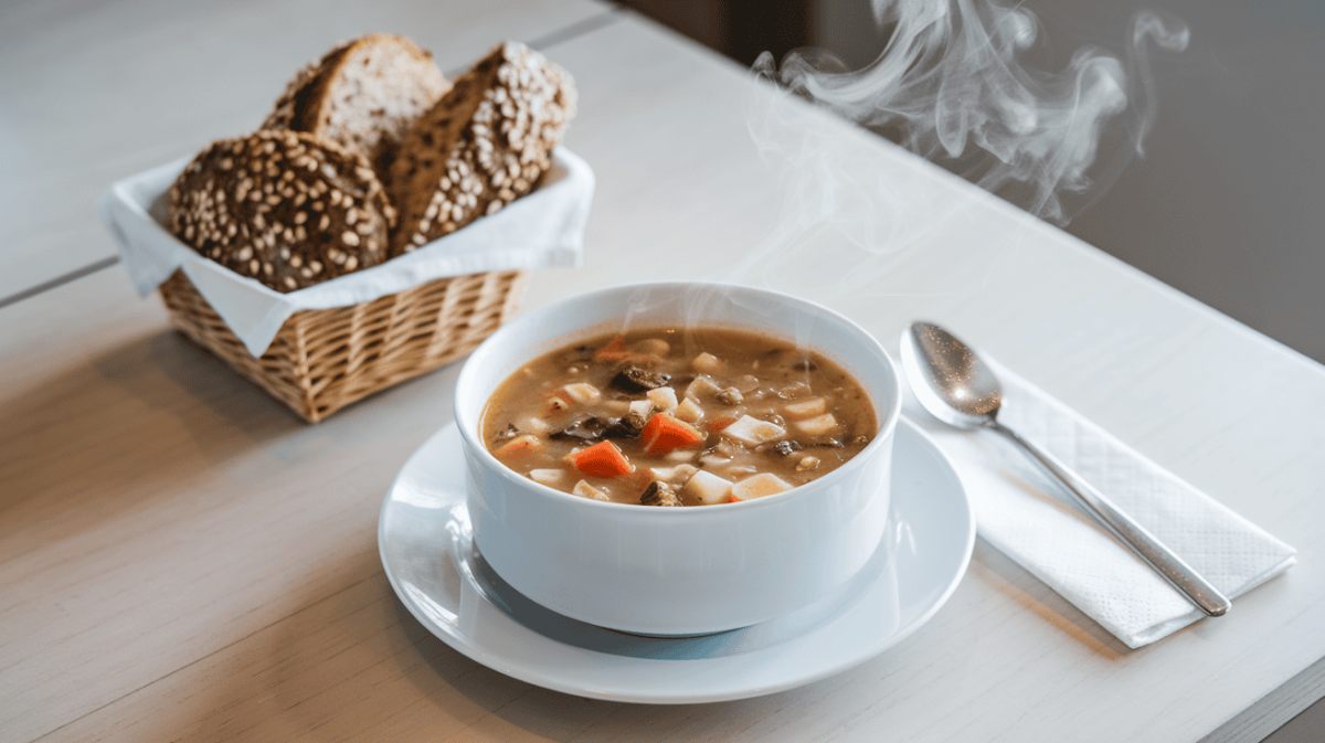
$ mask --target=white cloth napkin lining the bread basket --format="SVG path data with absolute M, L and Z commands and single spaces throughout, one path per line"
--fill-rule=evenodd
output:
M 151 294 L 182 269 L 254 356 L 266 351 L 299 310 L 371 302 L 435 278 L 578 266 L 594 200 L 594 171 L 558 147 L 543 185 L 496 215 L 371 269 L 282 294 L 204 258 L 162 226 L 163 195 L 188 162 L 182 158 L 114 184 L 101 200 L 101 220 L 119 244 L 121 261 L 139 294 Z

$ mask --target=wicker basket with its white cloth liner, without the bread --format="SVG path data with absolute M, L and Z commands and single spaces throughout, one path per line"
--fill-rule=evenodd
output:
M 558 148 L 551 177 L 496 215 L 380 266 L 280 294 L 166 230 L 164 195 L 188 160 L 121 180 L 102 197 L 121 264 L 140 294 L 160 293 L 176 330 L 310 422 L 477 347 L 515 314 L 531 269 L 579 265 L 594 199 L 588 163 Z

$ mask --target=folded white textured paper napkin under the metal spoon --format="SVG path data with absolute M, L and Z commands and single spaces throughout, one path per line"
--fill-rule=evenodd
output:
M 1043 448 L 1158 536 L 1230 599 L 1288 570 L 1297 551 L 1146 460 L 1003 367 L 999 421 Z M 906 388 L 902 412 L 957 468 L 979 535 L 1129 648 L 1202 619 L 1175 588 L 1077 510 L 1072 495 L 1002 436 L 947 426 Z M 1236 612 L 1236 601 L 1232 612 Z

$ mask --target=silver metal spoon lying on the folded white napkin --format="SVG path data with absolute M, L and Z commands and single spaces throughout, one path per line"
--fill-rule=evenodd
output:
M 992 430 L 1012 441 L 1045 471 L 1060 479 L 1101 526 L 1203 612 L 1218 617 L 1230 609 L 1232 604 L 1218 588 L 1145 527 L 1120 511 L 1052 454 L 998 422 L 1003 388 L 994 371 L 965 343 L 937 324 L 912 323 L 902 331 L 902 367 L 916 397 L 935 419 L 957 428 Z

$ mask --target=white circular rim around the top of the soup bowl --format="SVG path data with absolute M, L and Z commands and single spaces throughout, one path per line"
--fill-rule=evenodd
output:
M 812 481 L 810 481 L 810 482 L 807 482 L 804 485 L 792 487 L 790 490 L 784 490 L 782 493 L 775 493 L 772 495 L 765 495 L 762 498 L 754 498 L 751 501 L 739 501 L 739 502 L 735 502 L 735 503 L 730 503 L 730 502 L 727 502 L 727 503 L 712 503 L 712 505 L 706 505 L 706 506 L 702 506 L 702 507 L 688 507 L 688 509 L 641 509 L 640 506 L 637 506 L 635 503 L 617 503 L 615 501 L 595 501 L 595 499 L 591 499 L 591 498 L 583 498 L 580 495 L 575 495 L 572 493 L 566 493 L 563 490 L 558 490 L 555 487 L 543 485 L 541 482 L 535 482 L 535 481 L 533 481 L 533 479 L 530 479 L 527 477 L 522 477 L 518 473 L 515 473 L 515 470 L 513 470 L 513 469 L 507 468 L 505 464 L 502 464 L 501 460 L 498 460 L 496 456 L 493 456 L 492 452 L 488 450 L 488 446 L 478 438 L 478 436 L 473 430 L 470 430 L 470 425 L 466 425 L 470 421 L 461 420 L 462 417 L 468 419 L 468 415 L 464 413 L 464 411 L 466 411 L 466 408 L 461 404 L 461 391 L 465 387 L 473 384 L 472 380 L 477 375 L 477 372 L 474 371 L 477 367 L 476 367 L 476 364 L 473 362 L 476 359 L 481 360 L 484 355 L 492 352 L 490 351 L 492 347 L 500 344 L 506 335 L 510 335 L 511 332 L 514 332 L 514 330 L 507 330 L 507 328 L 518 328 L 518 327 L 523 327 L 523 326 L 529 326 L 529 324 L 537 324 L 542 319 L 543 315 L 547 315 L 549 313 L 558 311 L 558 310 L 563 309 L 566 305 L 568 305 L 571 302 L 591 302 L 591 301 L 594 301 L 594 299 L 596 299 L 596 298 L 599 298 L 599 297 L 602 297 L 604 294 L 617 294 L 617 293 L 627 291 L 627 290 L 660 289 L 660 287 L 710 287 L 710 289 L 737 289 L 737 290 L 742 290 L 742 291 L 753 291 L 753 293 L 757 293 L 757 294 L 763 294 L 763 295 L 775 298 L 779 302 L 786 302 L 786 303 L 790 303 L 792 306 L 799 306 L 800 309 L 806 309 L 806 310 L 811 310 L 814 313 L 819 313 L 819 314 L 822 314 L 824 317 L 832 318 L 833 321 L 844 324 L 848 330 L 856 332 L 857 335 L 861 336 L 861 339 L 867 340 L 867 347 L 871 347 L 872 350 L 877 351 L 877 355 L 886 362 L 888 372 L 889 372 L 889 375 L 893 379 L 893 388 L 894 389 L 893 389 L 892 401 L 886 407 L 886 411 L 884 411 L 885 415 L 880 416 L 878 433 L 874 436 L 873 440 L 871 440 L 871 442 L 868 445 L 865 445 L 864 449 L 860 450 L 860 453 L 857 453 L 855 457 L 852 457 L 851 460 L 848 460 L 845 464 L 840 465 L 837 469 L 829 471 L 828 474 L 825 474 L 825 475 L 823 475 L 820 478 L 815 478 L 815 479 L 812 479 Z M 735 326 L 737 323 L 730 323 L 730 324 Z M 586 328 L 588 328 L 588 327 L 592 327 L 592 326 L 586 326 Z M 739 326 L 739 327 L 747 327 L 747 326 Z M 824 352 L 824 351 L 819 351 L 819 352 Z M 824 352 L 824 355 L 829 356 L 835 363 L 841 364 L 843 367 L 845 367 L 845 364 L 843 364 L 839 360 L 837 355 L 831 354 L 831 352 Z M 851 370 L 847 370 L 847 371 L 851 372 Z M 857 375 L 852 373 L 853 379 Z M 498 383 L 498 387 L 502 383 L 505 383 L 506 379 L 509 379 L 509 376 L 504 377 Z M 857 379 L 857 383 L 861 384 L 861 388 L 865 387 L 864 383 L 860 383 L 859 379 Z M 871 403 L 874 404 L 876 409 L 880 409 L 880 407 L 878 407 L 878 404 L 876 401 L 877 396 L 873 395 L 871 389 L 865 389 L 865 392 L 871 395 Z M 818 302 L 814 302 L 811 299 L 804 299 L 802 297 L 796 297 L 794 294 L 787 294 L 784 291 L 778 291 L 778 290 L 774 290 L 774 289 L 763 289 L 763 287 L 757 287 L 757 286 L 749 286 L 749 285 L 743 285 L 743 283 L 730 283 L 730 282 L 721 282 L 721 281 L 645 281 L 645 282 L 617 283 L 617 285 L 606 286 L 606 287 L 602 287 L 602 289 L 595 289 L 595 290 L 591 290 L 591 291 L 583 291 L 583 293 L 579 293 L 579 294 L 572 294 L 570 297 L 563 297 L 563 298 L 560 298 L 560 299 L 558 299 L 558 301 L 555 301 L 553 303 L 543 305 L 542 307 L 531 310 L 527 314 L 522 314 L 518 318 L 515 318 L 514 321 L 511 321 L 511 322 L 504 324 L 502 327 L 497 328 L 496 332 L 493 332 L 490 336 L 488 336 L 478 346 L 478 348 L 476 348 L 469 355 L 469 358 L 465 359 L 465 363 L 464 363 L 464 366 L 460 370 L 460 376 L 456 380 L 456 392 L 454 392 L 454 400 L 453 400 L 453 404 L 452 404 L 452 411 L 454 413 L 453 417 L 454 417 L 454 421 L 456 421 L 456 429 L 460 432 L 461 441 L 466 445 L 466 448 L 473 449 L 474 452 L 477 452 L 477 456 L 481 460 L 484 460 L 484 462 L 486 465 L 489 465 L 489 469 L 501 473 L 501 477 L 504 479 L 509 481 L 509 482 L 518 482 L 522 486 L 531 486 L 534 493 L 541 493 L 541 494 L 551 495 L 551 497 L 554 497 L 554 498 L 556 498 L 556 499 L 559 499 L 562 502 L 566 502 L 567 505 L 570 505 L 570 507 L 625 509 L 625 511 L 623 511 L 623 513 L 635 513 L 635 511 L 652 513 L 652 511 L 662 511 L 662 513 L 665 513 L 668 515 L 662 515 L 661 518 L 677 519 L 677 518 L 705 518 L 705 517 L 701 517 L 698 514 L 710 513 L 710 511 L 712 513 L 730 513 L 733 509 L 753 510 L 753 509 L 762 509 L 762 507 L 775 507 L 776 503 L 780 503 L 783 501 L 794 499 L 794 498 L 798 498 L 798 497 L 810 497 L 810 495 L 806 495 L 806 493 L 814 490 L 812 487 L 810 487 L 812 485 L 820 485 L 820 483 L 832 485 L 832 481 L 848 477 L 852 470 L 860 469 L 860 468 L 865 466 L 865 460 L 871 458 L 871 457 L 865 457 L 864 456 L 867 452 L 869 452 L 871 456 L 877 456 L 876 452 L 880 448 L 882 448 L 885 445 L 889 446 L 889 448 L 892 446 L 892 438 L 893 438 L 893 434 L 897 430 L 898 420 L 901 419 L 901 404 L 902 404 L 901 399 L 902 399 L 902 395 L 901 395 L 901 373 L 898 372 L 897 363 L 893 360 L 893 358 L 888 354 L 888 351 L 878 342 L 878 339 L 873 336 L 873 334 L 871 334 L 868 330 L 865 330 L 864 327 L 861 327 L 860 323 L 852 321 L 847 315 L 843 315 L 841 313 L 839 313 L 839 311 L 836 311 L 836 310 L 833 310 L 831 307 L 827 307 L 827 306 L 820 305 Z M 486 405 L 488 405 L 488 400 L 484 400 L 482 408 L 486 408 Z M 482 416 L 482 412 L 481 412 L 482 408 L 480 409 L 480 419 Z M 482 424 L 481 420 L 473 421 L 474 429 L 477 430 L 477 426 L 481 425 L 481 424 Z M 696 511 L 698 514 L 693 514 Z M 660 517 L 651 517 L 651 518 L 660 518 Z

